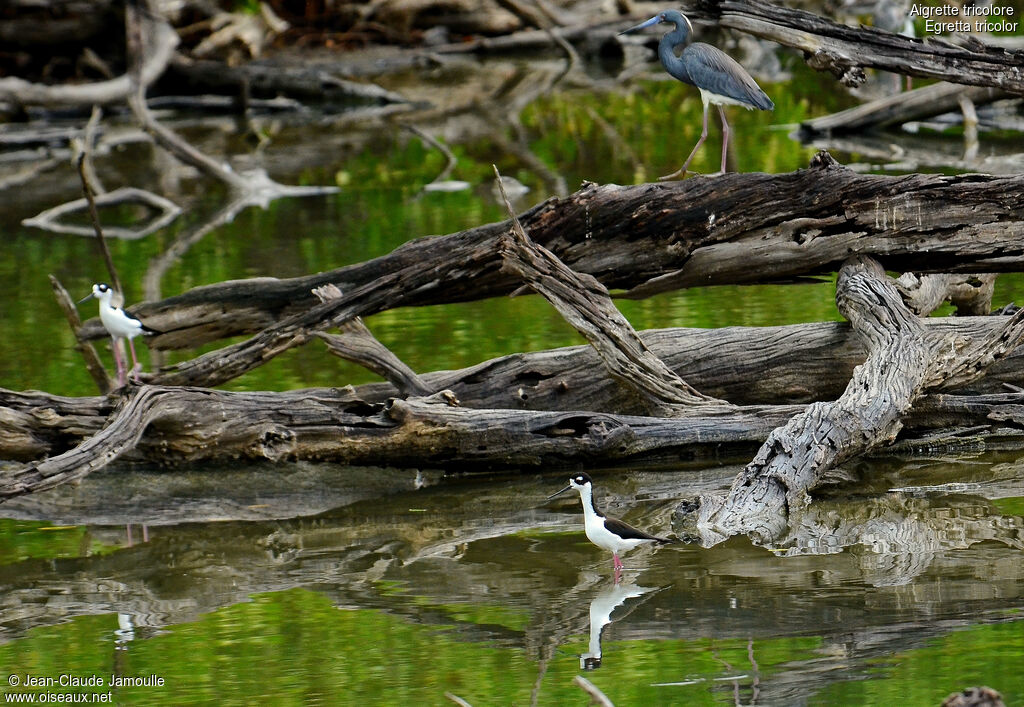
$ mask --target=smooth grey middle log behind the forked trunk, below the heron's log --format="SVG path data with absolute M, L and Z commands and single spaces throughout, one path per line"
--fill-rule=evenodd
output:
M 994 336 L 1006 320 L 931 318 L 921 323 L 931 336 L 977 340 Z M 748 406 L 834 400 L 867 356 L 850 326 L 839 322 L 659 329 L 640 332 L 640 337 L 654 356 L 696 389 Z M 422 378 L 431 390 L 451 389 L 471 408 L 638 415 L 646 405 L 603 370 L 591 346 L 512 354 L 456 371 L 424 373 Z M 1017 387 L 1024 387 L 1024 348 L 997 361 L 984 378 L 967 386 L 971 392 L 988 394 Z M 359 385 L 355 392 L 369 403 L 400 394 L 386 383 Z

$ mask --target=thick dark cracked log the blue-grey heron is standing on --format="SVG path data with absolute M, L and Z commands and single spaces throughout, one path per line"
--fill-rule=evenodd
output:
M 520 220 L 566 265 L 626 296 L 833 273 L 857 253 L 898 272 L 998 272 L 1018 268 L 1024 257 L 1024 176 L 867 176 L 822 154 L 810 169 L 788 174 L 585 184 Z M 208 285 L 131 311 L 168 332 L 152 345 L 180 348 L 307 313 L 315 301 L 311 290 L 328 283 L 346 297 L 362 293 L 350 317 L 509 294 L 521 283 L 499 272 L 498 239 L 508 228 L 493 223 L 419 239 L 380 258 L 303 278 Z M 996 241 L 997 253 L 979 248 Z M 98 320 L 82 334 L 105 336 Z

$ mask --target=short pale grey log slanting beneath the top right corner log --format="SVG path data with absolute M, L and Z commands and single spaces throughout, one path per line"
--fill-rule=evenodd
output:
M 898 125 L 911 120 L 933 118 L 959 110 L 959 100 L 967 96 L 976 106 L 998 100 L 1008 93 L 985 86 L 963 86 L 940 81 L 905 93 L 869 100 L 846 111 L 812 118 L 800 124 L 805 138 L 817 135 L 842 135 Z

